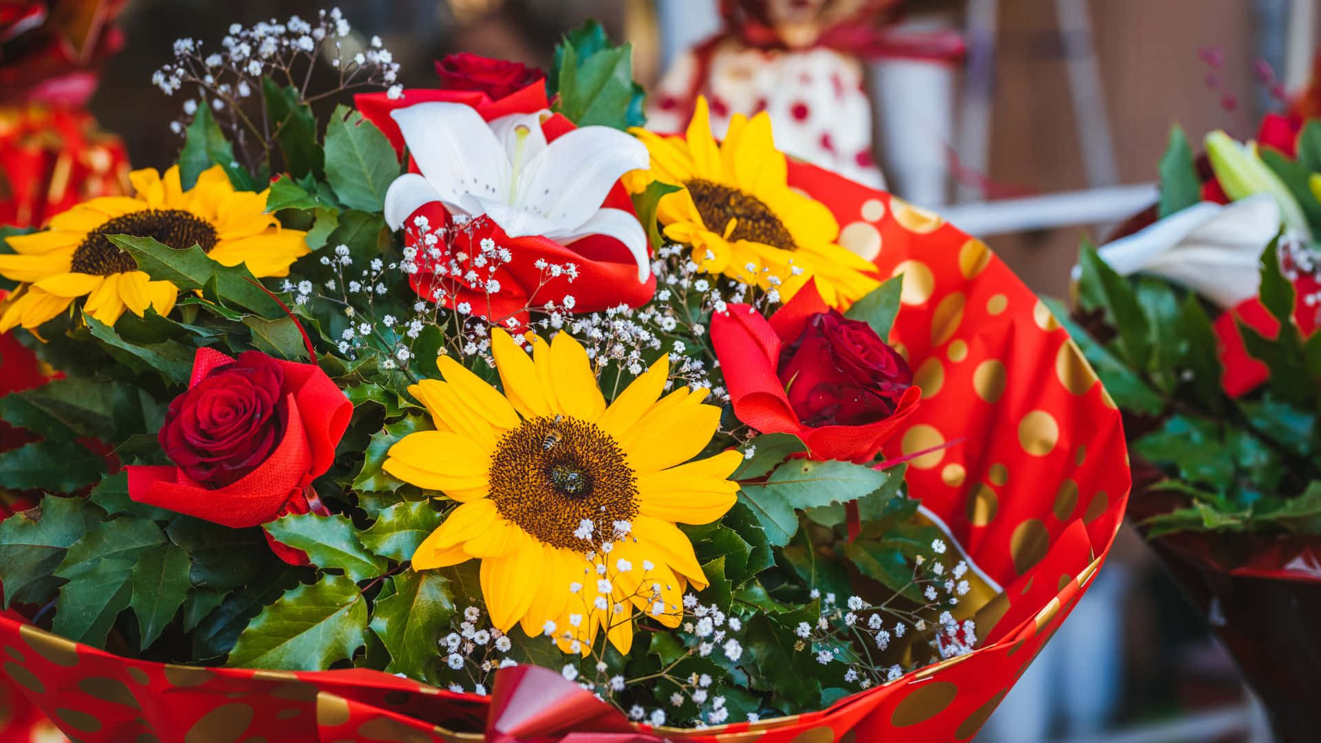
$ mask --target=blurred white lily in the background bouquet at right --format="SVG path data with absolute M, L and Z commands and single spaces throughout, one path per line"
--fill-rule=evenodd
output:
M 1230 309 L 1254 297 L 1258 262 L 1280 230 L 1280 206 L 1267 193 L 1227 205 L 1202 201 L 1100 247 L 1118 274 L 1152 274 Z M 1074 267 L 1074 278 L 1079 275 Z

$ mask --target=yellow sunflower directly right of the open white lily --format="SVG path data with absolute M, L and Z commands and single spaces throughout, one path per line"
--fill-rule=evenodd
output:
M 692 247 L 700 270 L 775 287 L 786 301 L 815 278 L 838 309 L 880 286 L 876 266 L 835 242 L 830 209 L 789 188 L 766 112 L 736 115 L 723 144 L 711 135 L 701 97 L 686 137 L 631 131 L 651 152 L 651 169 L 633 171 L 625 185 L 633 193 L 654 181 L 679 186 L 660 198 L 657 218 L 667 238 Z

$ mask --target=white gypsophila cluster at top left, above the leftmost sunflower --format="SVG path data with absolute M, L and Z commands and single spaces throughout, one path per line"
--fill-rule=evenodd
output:
M 313 93 L 308 86 L 318 58 L 337 70 L 338 83 L 332 90 Z M 369 87 L 384 87 L 391 97 L 403 94 L 403 86 L 395 82 L 399 62 L 394 54 L 380 37 L 354 36 L 339 8 L 321 11 L 314 21 L 291 16 L 283 24 L 275 19 L 250 28 L 231 24 L 214 50 L 203 48 L 201 41 L 180 38 L 174 41 L 174 59 L 152 73 L 152 85 L 166 95 L 185 87 L 198 91 L 199 98 L 184 100 L 184 116 L 170 124 L 176 134 L 182 134 L 198 106 L 210 106 L 217 122 L 230 130 L 240 156 L 256 164 L 258 151 L 271 143 L 280 126 L 256 106 L 247 106 L 250 98 L 262 97 L 266 77 L 279 87 L 292 87 L 300 104 Z

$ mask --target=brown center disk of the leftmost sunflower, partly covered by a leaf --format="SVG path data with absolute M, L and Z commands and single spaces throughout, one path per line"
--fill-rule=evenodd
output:
M 205 219 L 182 209 L 143 209 L 107 219 L 102 226 L 87 233 L 87 237 L 74 250 L 73 270 L 78 274 L 125 274 L 137 270 L 133 256 L 119 250 L 107 235 L 133 235 L 153 238 L 161 245 L 176 250 L 186 250 L 194 245 L 202 253 L 210 253 L 219 237 L 215 227 Z

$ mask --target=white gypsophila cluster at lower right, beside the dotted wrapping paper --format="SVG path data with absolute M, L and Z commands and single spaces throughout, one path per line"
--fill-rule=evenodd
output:
M 815 624 L 798 624 L 794 650 L 812 653 L 822 665 L 841 664 L 840 678 L 859 689 L 889 684 L 919 668 L 894 662 L 910 643 L 927 644 L 941 658 L 971 653 L 978 643 L 976 624 L 959 623 L 950 612 L 971 590 L 964 578 L 968 563 L 946 567 L 938 557 L 948 550 L 943 539 L 934 539 L 930 549 L 930 557 L 914 558 L 909 583 L 882 604 L 872 606 L 861 596 L 848 596 L 841 604 L 835 594 L 814 588 L 811 598 L 820 600 L 820 616 Z M 921 596 L 921 602 L 911 608 L 897 606 L 904 596 Z

